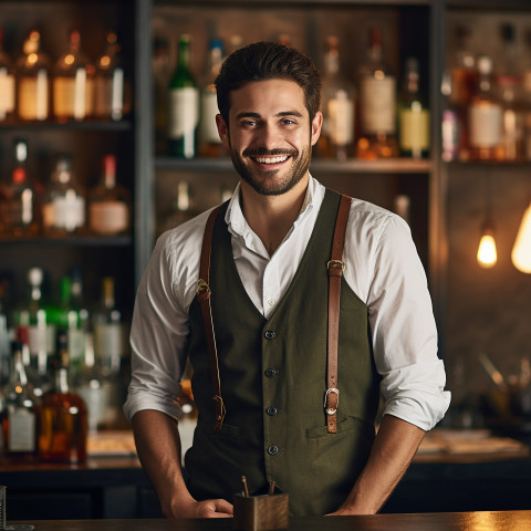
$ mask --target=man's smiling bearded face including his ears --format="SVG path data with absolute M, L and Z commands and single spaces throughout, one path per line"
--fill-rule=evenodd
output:
M 240 177 L 266 196 L 308 179 L 322 116 L 310 123 L 303 90 L 293 81 L 256 81 L 233 91 L 230 100 L 229 127 L 219 115 L 217 123 Z

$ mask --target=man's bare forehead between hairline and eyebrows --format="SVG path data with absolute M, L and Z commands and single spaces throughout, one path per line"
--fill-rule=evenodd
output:
M 242 113 L 259 115 L 296 112 L 306 115 L 308 111 L 302 87 L 290 80 L 251 81 L 231 92 L 230 115 Z

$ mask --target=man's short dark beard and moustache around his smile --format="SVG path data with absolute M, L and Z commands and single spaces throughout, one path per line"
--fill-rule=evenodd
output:
M 304 146 L 302 152 L 298 149 L 244 149 L 242 156 L 236 149 L 230 148 L 230 156 L 240 177 L 262 196 L 280 196 L 291 190 L 306 175 L 311 163 L 311 147 Z M 247 164 L 242 157 L 249 156 L 278 156 L 291 157 L 291 167 L 282 178 L 275 178 L 283 169 L 259 170 Z M 252 164 L 252 163 L 251 163 Z

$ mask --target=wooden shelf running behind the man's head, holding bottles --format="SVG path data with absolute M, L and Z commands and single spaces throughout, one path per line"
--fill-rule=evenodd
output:
M 233 171 L 232 160 L 223 158 L 156 157 L 155 168 L 168 171 Z M 389 158 L 381 160 L 361 160 L 351 158 L 345 162 L 315 158 L 311 170 L 332 174 L 427 174 L 431 170 L 429 159 Z

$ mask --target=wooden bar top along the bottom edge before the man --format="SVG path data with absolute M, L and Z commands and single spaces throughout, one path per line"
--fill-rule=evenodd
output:
M 8 524 L 11 523 L 8 521 Z M 231 531 L 232 519 L 38 520 L 35 531 Z M 524 531 L 531 511 L 479 511 L 290 519 L 291 531 Z

